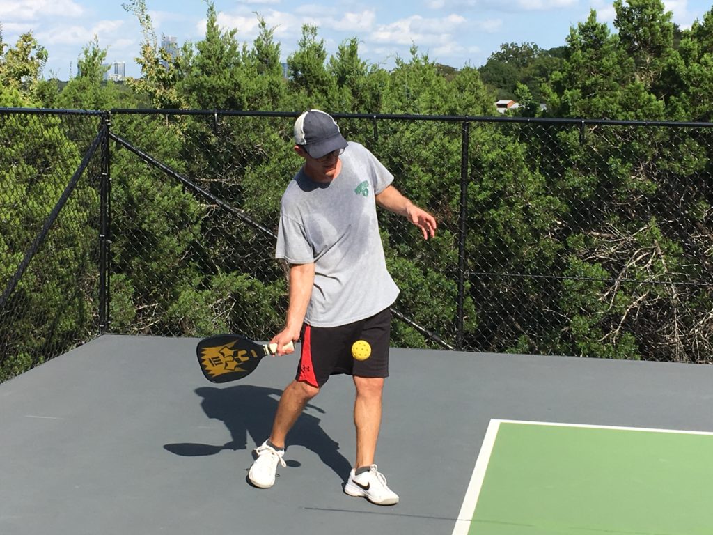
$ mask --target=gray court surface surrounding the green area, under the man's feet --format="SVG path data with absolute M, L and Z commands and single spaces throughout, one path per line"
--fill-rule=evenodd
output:
M 252 449 L 295 358 L 215 385 L 197 341 L 103 336 L 0 384 L 0 534 L 450 535 L 491 418 L 713 431 L 713 367 L 394 349 L 377 464 L 401 503 L 342 492 L 344 376 L 260 490 L 246 482 Z

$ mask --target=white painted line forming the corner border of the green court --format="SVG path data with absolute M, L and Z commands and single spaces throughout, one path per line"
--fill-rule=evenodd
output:
M 541 425 L 548 427 L 579 427 L 580 429 L 614 429 L 616 431 L 643 431 L 650 433 L 698 434 L 704 436 L 713 436 L 713 432 L 708 431 L 682 431 L 680 429 L 653 429 L 647 427 L 620 427 L 614 425 L 563 424 L 557 422 L 530 422 L 528 420 L 491 419 L 490 423 L 488 424 L 486 436 L 483 438 L 483 445 L 481 446 L 481 451 L 478 452 L 478 459 L 476 459 L 476 467 L 473 468 L 471 482 L 468 484 L 466 496 L 463 498 L 463 505 L 461 506 L 461 511 L 458 513 L 458 518 L 456 519 L 456 526 L 453 527 L 452 535 L 467 535 L 468 530 L 471 529 L 473 514 L 475 514 L 476 512 L 478 496 L 480 496 L 481 494 L 481 488 L 483 487 L 483 479 L 485 479 L 486 469 L 488 468 L 488 463 L 490 462 L 491 455 L 493 454 L 493 446 L 495 445 L 495 439 L 498 435 L 500 424 Z

